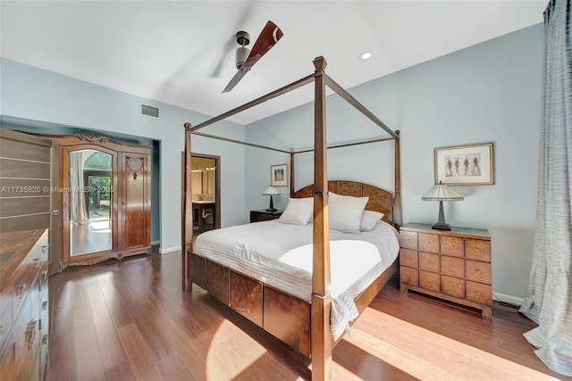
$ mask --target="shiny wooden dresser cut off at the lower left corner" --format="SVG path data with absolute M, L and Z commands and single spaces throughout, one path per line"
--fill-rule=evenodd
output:
M 43 380 L 49 339 L 48 229 L 0 233 L 0 379 Z

